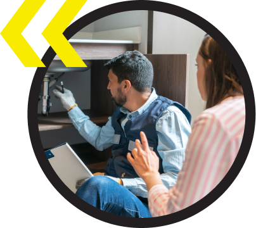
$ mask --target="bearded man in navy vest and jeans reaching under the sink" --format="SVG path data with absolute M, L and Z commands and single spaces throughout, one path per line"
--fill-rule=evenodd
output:
M 77 183 L 77 196 L 105 212 L 125 217 L 151 217 L 148 191 L 138 177 L 127 153 L 141 141 L 140 132 L 148 138 L 150 149 L 159 158 L 163 184 L 170 189 L 176 184 L 182 168 L 184 152 L 191 133 L 191 115 L 181 104 L 158 96 L 153 84 L 153 66 L 139 51 L 127 51 L 108 61 L 108 87 L 117 105 L 103 127 L 93 124 L 79 109 L 72 92 L 56 86 L 58 96 L 68 116 L 89 143 L 96 149 L 112 147 L 105 175 L 96 175 Z

